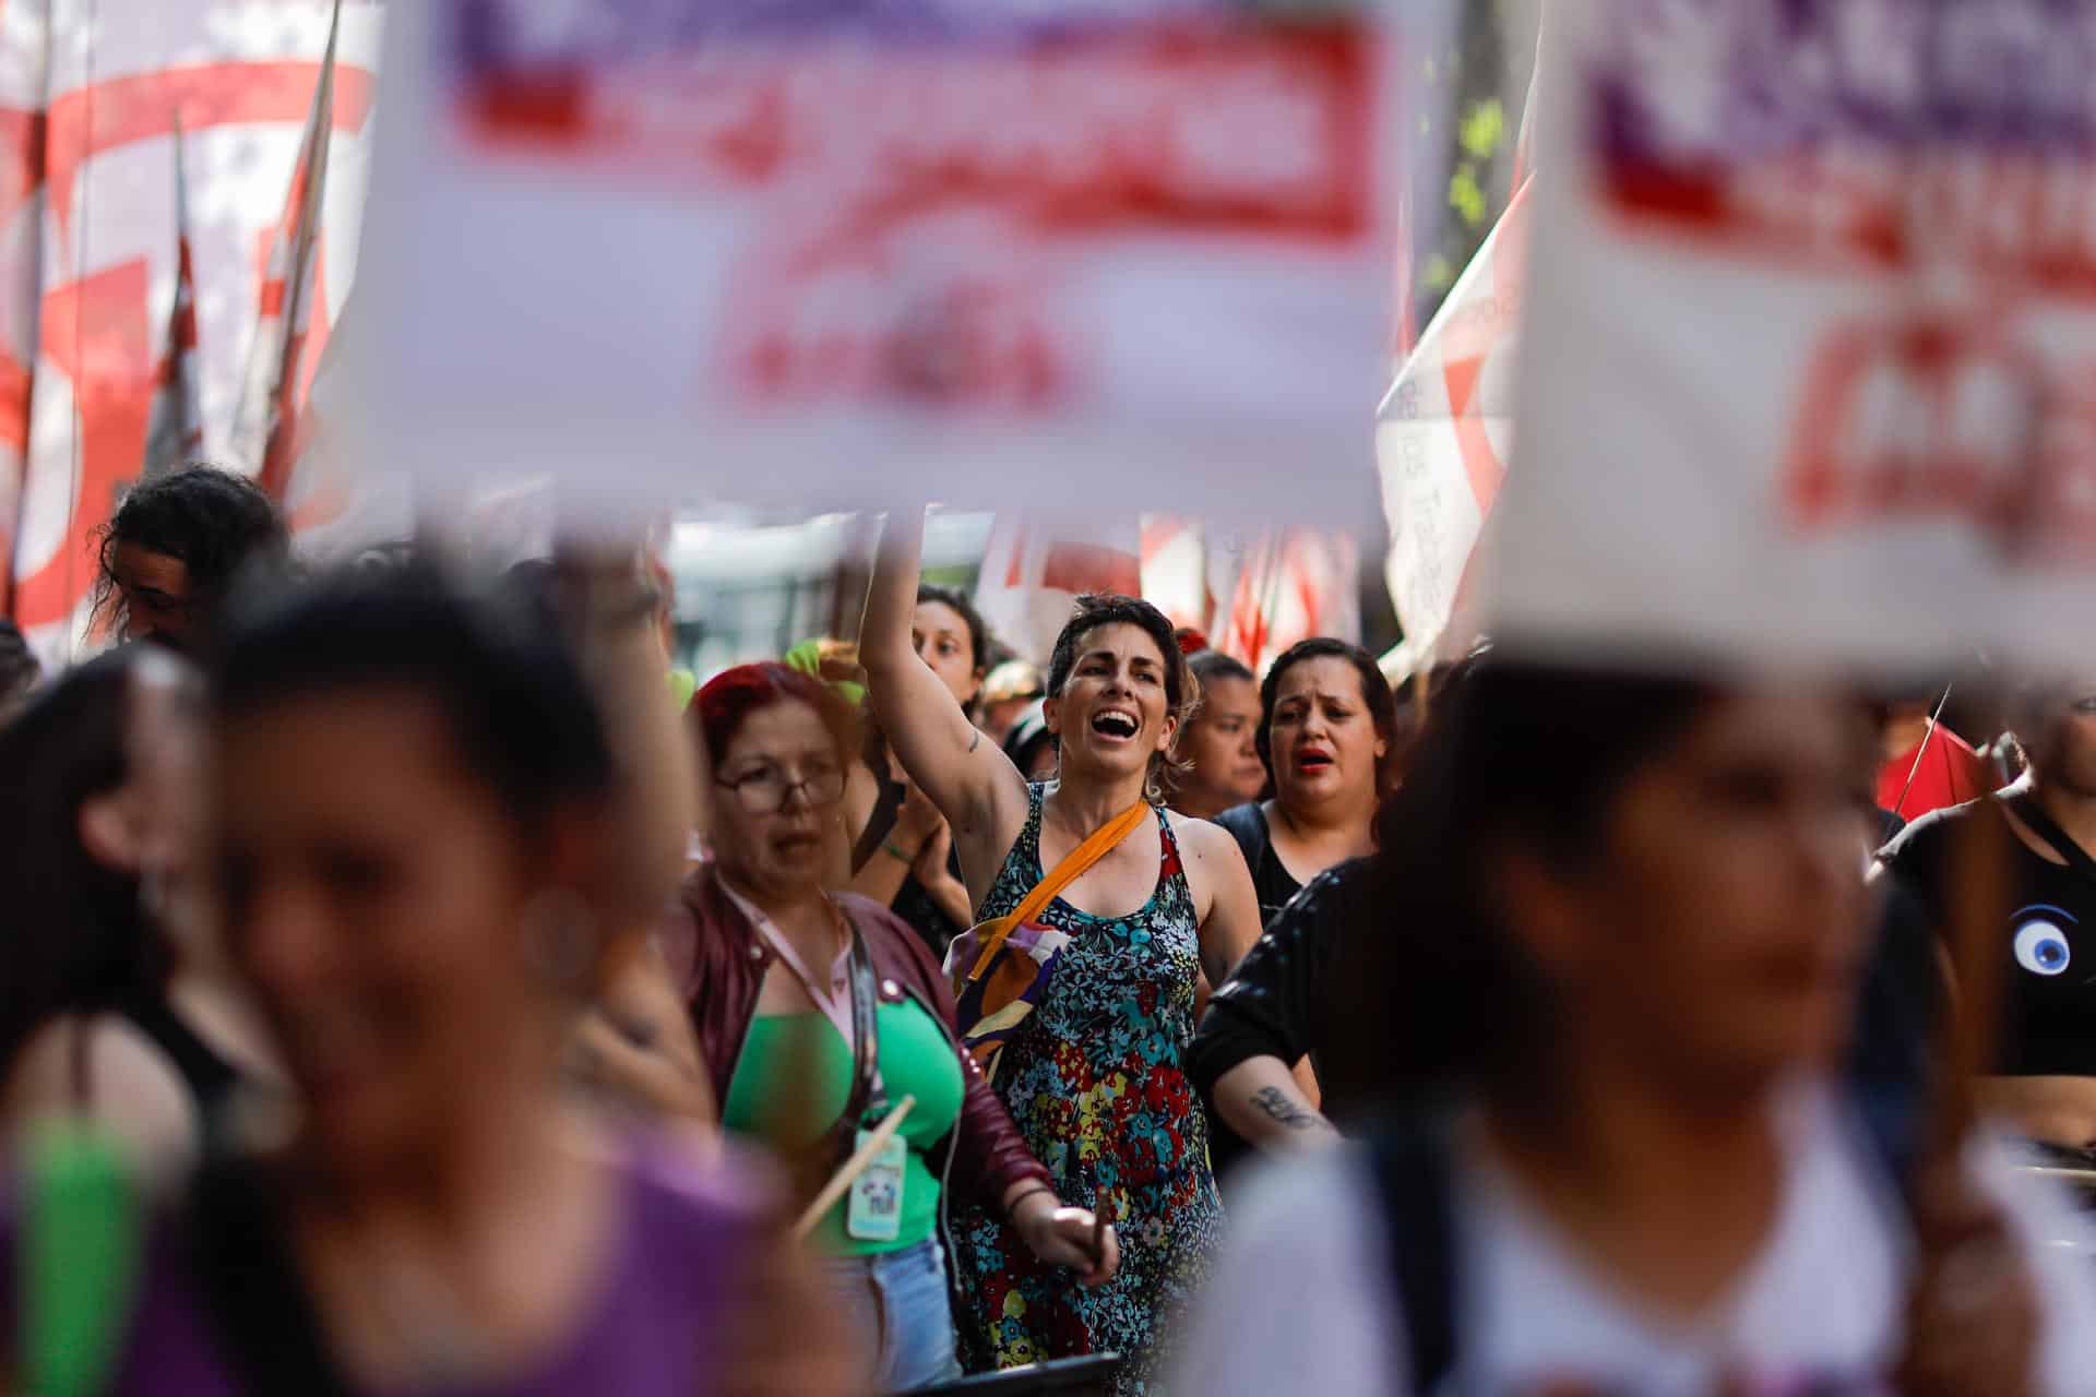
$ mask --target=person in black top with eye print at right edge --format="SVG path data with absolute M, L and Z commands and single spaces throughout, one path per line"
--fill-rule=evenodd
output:
M 1878 855 L 1941 932 L 1949 869 L 1972 821 L 2012 840 L 2000 955 L 2002 1043 L 1983 1102 L 2035 1141 L 2096 1152 L 2096 683 L 2031 689 L 2016 733 L 2021 781 L 1907 825 Z

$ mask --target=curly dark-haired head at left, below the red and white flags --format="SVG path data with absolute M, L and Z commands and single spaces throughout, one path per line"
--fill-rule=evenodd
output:
M 233 580 L 245 568 L 281 566 L 289 551 L 283 517 L 258 484 L 187 465 L 132 488 L 109 517 L 94 616 L 126 641 L 195 653 Z

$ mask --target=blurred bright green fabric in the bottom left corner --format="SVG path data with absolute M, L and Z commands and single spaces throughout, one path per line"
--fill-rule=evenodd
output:
M 27 1144 L 17 1357 L 23 1391 L 90 1397 L 115 1374 L 130 1326 L 145 1219 L 119 1146 L 52 1123 Z

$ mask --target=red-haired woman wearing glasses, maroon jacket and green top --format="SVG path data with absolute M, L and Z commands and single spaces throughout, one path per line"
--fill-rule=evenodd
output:
M 843 840 L 855 714 L 782 664 L 727 670 L 692 704 L 708 756 L 715 859 L 685 884 L 698 926 L 692 1020 L 721 1121 L 757 1135 L 813 1198 L 903 1097 L 899 1158 L 815 1225 L 813 1244 L 868 1349 L 901 1391 L 958 1376 L 939 1250 L 947 1188 L 1002 1211 L 1035 1257 L 1088 1286 L 1117 1267 L 1111 1229 L 1067 1208 L 975 1060 L 924 943 L 889 909 L 824 890 Z

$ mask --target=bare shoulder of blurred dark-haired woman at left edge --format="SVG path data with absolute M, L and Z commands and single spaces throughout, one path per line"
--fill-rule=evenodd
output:
M 0 1097 L 8 1131 L 73 1110 L 78 1018 L 46 1024 L 23 1047 Z M 105 1014 L 86 1024 L 90 1114 L 130 1144 L 155 1173 L 178 1171 L 197 1152 L 201 1123 L 168 1056 L 136 1026 Z

